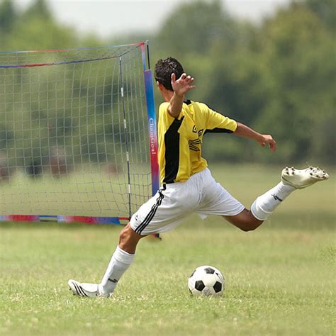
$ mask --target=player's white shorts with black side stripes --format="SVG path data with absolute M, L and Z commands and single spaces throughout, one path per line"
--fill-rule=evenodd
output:
M 244 208 L 213 179 L 206 168 L 187 181 L 160 188 L 130 218 L 130 226 L 140 235 L 164 233 L 175 228 L 191 213 L 205 219 L 208 215 L 237 215 Z

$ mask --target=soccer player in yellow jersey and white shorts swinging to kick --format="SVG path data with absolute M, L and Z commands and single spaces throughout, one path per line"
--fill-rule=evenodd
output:
M 208 108 L 204 103 L 186 99 L 194 89 L 194 78 L 184 72 L 172 57 L 155 65 L 155 79 L 164 103 L 159 106 L 159 169 L 162 187 L 134 213 L 121 230 L 119 244 L 111 257 L 100 284 L 69 280 L 77 296 L 111 296 L 123 273 L 133 262 L 135 249 L 142 237 L 164 233 L 176 227 L 191 213 L 201 218 L 221 215 L 243 231 L 258 228 L 284 199 L 296 189 L 328 178 L 318 167 L 298 170 L 285 168 L 281 181 L 257 197 L 247 210 L 213 179 L 206 160 L 201 157 L 205 133 L 232 133 L 255 140 L 275 152 L 271 135 L 260 134 Z

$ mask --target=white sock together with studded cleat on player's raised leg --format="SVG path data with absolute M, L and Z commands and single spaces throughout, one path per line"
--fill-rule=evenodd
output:
M 252 203 L 251 211 L 258 220 L 266 220 L 271 213 L 294 190 L 311 186 L 318 181 L 328 179 L 329 175 L 318 167 L 295 169 L 286 167 L 281 172 L 281 182 Z

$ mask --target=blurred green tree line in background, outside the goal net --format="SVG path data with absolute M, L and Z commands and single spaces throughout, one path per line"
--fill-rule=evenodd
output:
M 231 162 L 335 164 L 335 16 L 333 0 L 293 1 L 261 23 L 230 16 L 218 1 L 181 4 L 161 28 L 101 40 L 79 37 L 47 2 L 25 11 L 0 1 L 0 50 L 89 47 L 150 40 L 151 66 L 176 57 L 195 77 L 189 98 L 278 142 L 272 154 L 232 135 L 206 135 L 204 155 Z M 158 106 L 162 98 L 157 94 Z

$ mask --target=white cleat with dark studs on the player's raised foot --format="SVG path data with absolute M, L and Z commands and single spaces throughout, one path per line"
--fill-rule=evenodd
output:
M 295 169 L 286 167 L 281 172 L 281 180 L 284 184 L 289 184 L 296 189 L 303 189 L 311 186 L 315 182 L 328 179 L 329 175 L 319 167 L 309 167 L 306 169 Z

